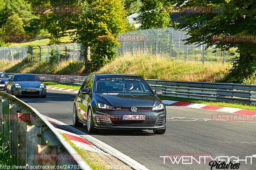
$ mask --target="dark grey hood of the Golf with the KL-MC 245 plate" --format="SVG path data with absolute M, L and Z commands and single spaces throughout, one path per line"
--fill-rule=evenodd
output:
M 109 95 L 110 94 L 110 95 Z M 112 93 L 113 94 L 113 93 Z M 94 97 L 101 103 L 114 107 L 153 107 L 162 103 L 155 94 L 114 94 L 95 93 Z

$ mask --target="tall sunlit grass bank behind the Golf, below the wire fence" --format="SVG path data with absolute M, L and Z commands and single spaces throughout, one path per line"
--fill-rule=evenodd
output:
M 97 73 L 138 74 L 146 79 L 177 81 L 222 81 L 230 65 L 217 62 L 169 59 L 162 56 L 125 55 L 115 58 Z M 96 72 L 95 72 L 96 73 Z

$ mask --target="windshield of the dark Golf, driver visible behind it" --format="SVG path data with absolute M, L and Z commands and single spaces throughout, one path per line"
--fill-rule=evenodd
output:
M 96 93 L 148 93 L 152 91 L 142 78 L 97 77 Z

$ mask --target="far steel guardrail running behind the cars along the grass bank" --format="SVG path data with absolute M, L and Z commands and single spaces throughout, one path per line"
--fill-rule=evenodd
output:
M 8 73 L 11 75 L 11 73 Z M 12 73 L 13 74 L 13 73 Z M 81 85 L 85 76 L 38 74 L 44 81 L 67 82 Z M 196 81 L 169 81 L 146 79 L 152 89 L 163 91 L 163 96 L 202 100 L 256 104 L 256 85 L 212 83 Z

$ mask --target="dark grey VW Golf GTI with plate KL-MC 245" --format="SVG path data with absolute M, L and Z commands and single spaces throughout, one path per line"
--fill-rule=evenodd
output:
M 98 129 L 166 130 L 166 108 L 139 75 L 91 74 L 78 94 L 73 108 L 73 125 L 87 124 L 89 133 Z

